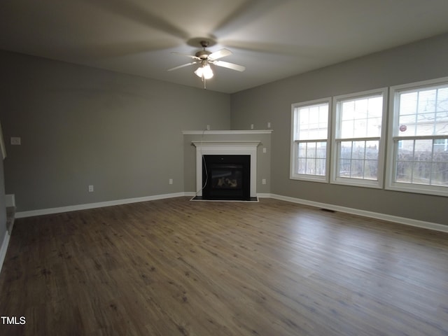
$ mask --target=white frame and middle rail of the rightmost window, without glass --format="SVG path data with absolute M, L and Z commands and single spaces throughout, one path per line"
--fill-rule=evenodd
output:
M 402 191 L 407 193 L 421 193 L 426 195 L 439 195 L 448 196 L 448 188 L 445 186 L 429 186 L 426 184 L 418 183 L 405 183 L 395 181 L 396 174 L 396 161 L 398 151 L 398 140 L 414 140 L 414 139 L 446 139 L 447 136 L 416 136 L 409 137 L 398 136 L 398 118 L 400 116 L 399 110 L 399 97 L 402 92 L 412 92 L 412 90 L 431 89 L 440 86 L 448 87 L 448 77 L 435 78 L 431 80 L 421 80 L 414 83 L 406 83 L 402 85 L 394 85 L 390 87 L 390 99 L 389 99 L 389 116 L 388 116 L 388 153 L 387 153 L 387 165 L 386 165 L 386 183 L 384 189 Z

